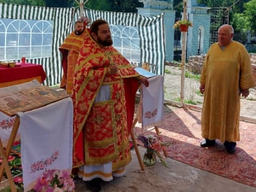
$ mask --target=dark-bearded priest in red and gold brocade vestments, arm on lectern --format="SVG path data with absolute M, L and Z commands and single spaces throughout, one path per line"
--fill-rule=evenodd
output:
M 129 134 L 135 94 L 149 82 L 112 46 L 108 23 L 96 20 L 85 38 L 74 73 L 73 168 L 89 190 L 99 179 L 124 175 L 131 161 Z

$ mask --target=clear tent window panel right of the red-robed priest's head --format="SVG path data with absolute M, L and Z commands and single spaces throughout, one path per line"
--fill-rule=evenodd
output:
M 113 46 L 130 62 L 140 62 L 140 38 L 138 29 L 132 26 L 110 25 Z

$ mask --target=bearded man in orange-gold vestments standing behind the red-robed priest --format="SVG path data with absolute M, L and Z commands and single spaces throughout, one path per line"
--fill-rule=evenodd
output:
M 63 76 L 60 87 L 65 88 L 66 93 L 71 94 L 73 88 L 74 68 L 77 64 L 78 55 L 85 38 L 85 26 L 80 20 L 75 23 L 75 30 L 65 38 L 60 46 L 62 53 Z

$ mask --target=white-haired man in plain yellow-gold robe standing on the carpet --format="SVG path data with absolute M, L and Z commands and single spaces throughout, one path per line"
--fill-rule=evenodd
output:
M 218 29 L 218 42 L 210 46 L 200 80 L 204 94 L 201 147 L 215 145 L 218 139 L 230 154 L 240 140 L 240 96 L 246 98 L 255 87 L 252 66 L 246 48 L 233 41 L 233 27 Z

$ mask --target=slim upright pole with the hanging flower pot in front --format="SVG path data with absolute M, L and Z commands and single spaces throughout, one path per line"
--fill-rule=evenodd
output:
M 187 20 L 187 1 L 183 0 L 183 20 Z M 184 104 L 184 82 L 185 82 L 185 62 L 186 62 L 186 48 L 187 48 L 187 32 L 182 32 L 182 74 L 180 85 L 180 105 Z

